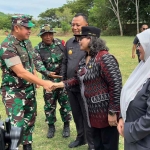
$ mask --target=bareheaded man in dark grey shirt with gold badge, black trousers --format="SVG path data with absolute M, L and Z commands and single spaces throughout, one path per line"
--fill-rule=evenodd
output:
M 88 26 L 87 18 L 84 14 L 78 13 L 71 22 L 72 32 L 75 36 L 66 42 L 66 50 L 62 63 L 63 80 L 74 77 L 79 60 L 85 56 L 85 52 L 80 50 L 78 37 L 76 36 L 80 34 L 82 26 Z M 74 86 L 67 92 L 77 130 L 76 140 L 71 142 L 68 146 L 74 148 L 86 144 L 87 141 L 89 146 L 88 149 L 94 150 L 91 128 L 87 125 L 85 107 L 81 98 L 80 88 L 79 86 Z

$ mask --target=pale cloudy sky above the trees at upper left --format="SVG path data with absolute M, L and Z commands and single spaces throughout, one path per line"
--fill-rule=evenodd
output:
M 37 19 L 47 9 L 58 8 L 67 0 L 0 0 L 0 12 L 5 14 L 28 14 Z

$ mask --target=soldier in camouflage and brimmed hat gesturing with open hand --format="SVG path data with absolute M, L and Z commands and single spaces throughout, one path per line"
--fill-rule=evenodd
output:
M 38 36 L 42 38 L 42 42 L 40 42 L 34 49 L 34 64 L 36 70 L 42 74 L 43 79 L 59 82 L 61 80 L 60 68 L 63 59 L 64 45 L 61 40 L 54 38 L 54 33 L 55 31 L 49 24 L 43 24 L 41 26 Z M 64 122 L 62 136 L 69 137 L 71 108 L 66 91 L 62 89 L 57 89 L 53 92 L 43 90 L 43 97 L 45 101 L 44 111 L 46 122 L 49 125 L 47 138 L 54 137 L 57 100 L 61 107 L 60 115 Z

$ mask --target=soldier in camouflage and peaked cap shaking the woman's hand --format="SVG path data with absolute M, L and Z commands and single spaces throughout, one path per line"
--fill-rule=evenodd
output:
M 12 126 L 23 128 L 23 150 L 32 150 L 32 132 L 37 103 L 35 84 L 50 91 L 51 82 L 34 75 L 31 33 L 31 17 L 12 17 L 12 31 L 0 46 L 2 69 L 2 100 Z

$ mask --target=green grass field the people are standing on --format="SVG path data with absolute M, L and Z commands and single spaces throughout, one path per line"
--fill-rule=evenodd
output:
M 3 41 L 5 36 L 0 36 L 0 43 Z M 58 37 L 60 39 L 67 40 L 69 37 Z M 120 66 L 122 73 L 123 83 L 127 80 L 128 76 L 132 70 L 137 65 L 138 61 L 131 58 L 131 48 L 132 41 L 134 37 L 120 37 L 120 36 L 108 36 L 102 37 L 107 42 L 107 46 L 110 48 L 110 53 L 113 54 Z M 30 40 L 32 41 L 33 46 L 40 42 L 40 38 L 36 36 L 31 36 Z M 61 132 L 63 128 L 63 123 L 59 114 L 59 106 L 57 109 L 57 122 L 56 122 L 56 134 L 53 139 L 47 139 L 47 129 L 48 126 L 45 123 L 45 115 L 43 112 L 43 94 L 42 88 L 37 90 L 37 119 L 36 126 L 33 133 L 33 150 L 70 150 L 68 144 L 70 141 L 73 141 L 76 138 L 76 130 L 74 122 L 71 121 L 71 136 L 69 138 L 62 138 Z M 7 117 L 5 114 L 5 109 L 3 103 L 0 101 L 0 115 L 4 121 Z M 20 150 L 22 147 L 20 146 Z M 87 145 L 74 148 L 72 150 L 87 150 Z M 119 150 L 123 150 L 123 138 L 120 137 Z

